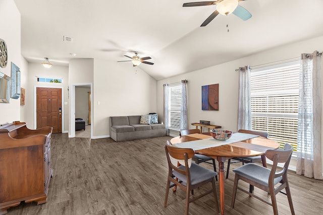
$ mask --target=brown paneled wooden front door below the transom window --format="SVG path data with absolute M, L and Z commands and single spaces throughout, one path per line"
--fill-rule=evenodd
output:
M 62 89 L 36 88 L 37 128 L 52 127 L 53 133 L 62 133 Z

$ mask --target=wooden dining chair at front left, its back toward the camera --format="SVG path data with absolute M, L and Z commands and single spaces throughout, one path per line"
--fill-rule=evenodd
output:
M 169 189 L 172 187 L 171 182 L 182 190 L 186 191 L 186 204 L 185 204 L 185 214 L 188 214 L 189 203 L 209 194 L 213 193 L 214 201 L 216 203 L 217 211 L 219 212 L 219 202 L 217 196 L 217 187 L 215 182 L 215 176 L 217 172 L 206 169 L 195 163 L 190 163 L 189 159 L 193 158 L 195 155 L 192 149 L 182 149 L 170 145 L 165 146 L 165 152 L 168 162 L 168 176 L 167 176 L 167 186 L 164 207 L 167 206 L 167 199 L 169 194 Z M 181 165 L 174 165 L 171 162 L 171 158 L 179 161 Z M 176 180 L 178 179 L 178 180 Z M 212 184 L 212 189 L 209 189 L 198 196 L 190 198 L 190 191 L 196 189 L 207 183 Z

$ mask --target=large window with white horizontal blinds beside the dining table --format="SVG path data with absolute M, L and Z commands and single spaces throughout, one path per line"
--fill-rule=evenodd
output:
M 300 62 L 251 69 L 252 129 L 297 149 Z

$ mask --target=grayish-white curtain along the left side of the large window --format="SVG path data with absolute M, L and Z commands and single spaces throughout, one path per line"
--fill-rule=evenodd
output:
M 251 129 L 250 67 L 239 67 L 238 130 Z

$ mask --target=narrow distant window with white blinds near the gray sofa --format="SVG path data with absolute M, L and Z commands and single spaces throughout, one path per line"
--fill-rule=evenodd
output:
M 169 129 L 180 131 L 182 85 L 181 83 L 172 84 L 170 85 L 169 90 Z

